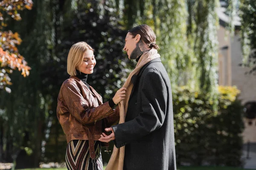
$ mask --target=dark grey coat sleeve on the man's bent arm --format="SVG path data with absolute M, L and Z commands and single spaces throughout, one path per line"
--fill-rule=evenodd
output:
M 139 116 L 131 121 L 112 126 L 115 133 L 114 143 L 117 148 L 143 139 L 144 136 L 163 125 L 168 103 L 166 83 L 157 71 L 148 72 L 141 81 L 143 81 L 142 108 Z

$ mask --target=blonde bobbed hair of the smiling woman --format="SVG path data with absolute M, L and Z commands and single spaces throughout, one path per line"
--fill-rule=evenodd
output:
M 72 45 L 67 56 L 67 73 L 70 76 L 76 76 L 76 68 L 82 64 L 84 59 L 84 53 L 87 50 L 93 50 L 93 48 L 86 42 L 77 42 Z

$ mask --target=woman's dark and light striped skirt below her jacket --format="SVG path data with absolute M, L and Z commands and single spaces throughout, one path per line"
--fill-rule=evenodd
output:
M 67 144 L 66 166 L 68 170 L 103 170 L 100 141 L 94 142 L 96 157 L 90 158 L 89 141 L 72 140 Z

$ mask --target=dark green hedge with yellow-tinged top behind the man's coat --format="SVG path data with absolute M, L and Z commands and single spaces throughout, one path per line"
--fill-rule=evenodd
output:
M 218 114 L 201 91 L 174 91 L 177 164 L 241 166 L 242 105 L 235 87 L 219 87 Z

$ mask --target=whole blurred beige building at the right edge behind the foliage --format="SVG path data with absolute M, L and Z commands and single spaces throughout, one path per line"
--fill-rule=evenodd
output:
M 242 49 L 239 29 L 241 26 L 240 18 L 234 17 L 235 34 L 233 36 L 225 28 L 230 18 L 226 14 L 226 0 L 220 0 L 221 7 L 217 13 L 220 27 L 218 29 L 219 42 L 219 85 L 235 85 L 240 91 L 240 99 L 244 104 L 244 143 L 256 143 L 256 75 L 245 74 L 249 68 L 241 67 Z M 237 5 L 238 8 L 238 5 Z

